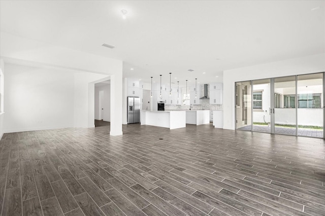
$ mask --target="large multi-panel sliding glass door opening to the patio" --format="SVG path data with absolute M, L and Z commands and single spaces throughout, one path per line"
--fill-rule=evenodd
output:
M 236 129 L 323 138 L 324 73 L 237 82 Z

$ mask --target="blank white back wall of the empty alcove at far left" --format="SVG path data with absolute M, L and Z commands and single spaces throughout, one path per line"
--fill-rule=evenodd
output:
M 6 64 L 5 132 L 74 126 L 74 74 Z

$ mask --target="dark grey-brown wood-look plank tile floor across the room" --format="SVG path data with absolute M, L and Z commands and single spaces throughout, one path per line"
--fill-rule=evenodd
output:
M 323 139 L 211 124 L 109 131 L 4 134 L 1 214 L 324 215 Z

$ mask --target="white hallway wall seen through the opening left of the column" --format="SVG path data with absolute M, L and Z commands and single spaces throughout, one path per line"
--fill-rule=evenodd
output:
M 104 116 L 102 116 L 103 121 L 109 122 L 111 120 L 111 85 L 107 84 L 105 86 L 95 86 L 95 119 L 102 120 L 99 118 L 99 94 L 100 91 L 104 91 L 103 96 L 103 109 L 104 109 Z

